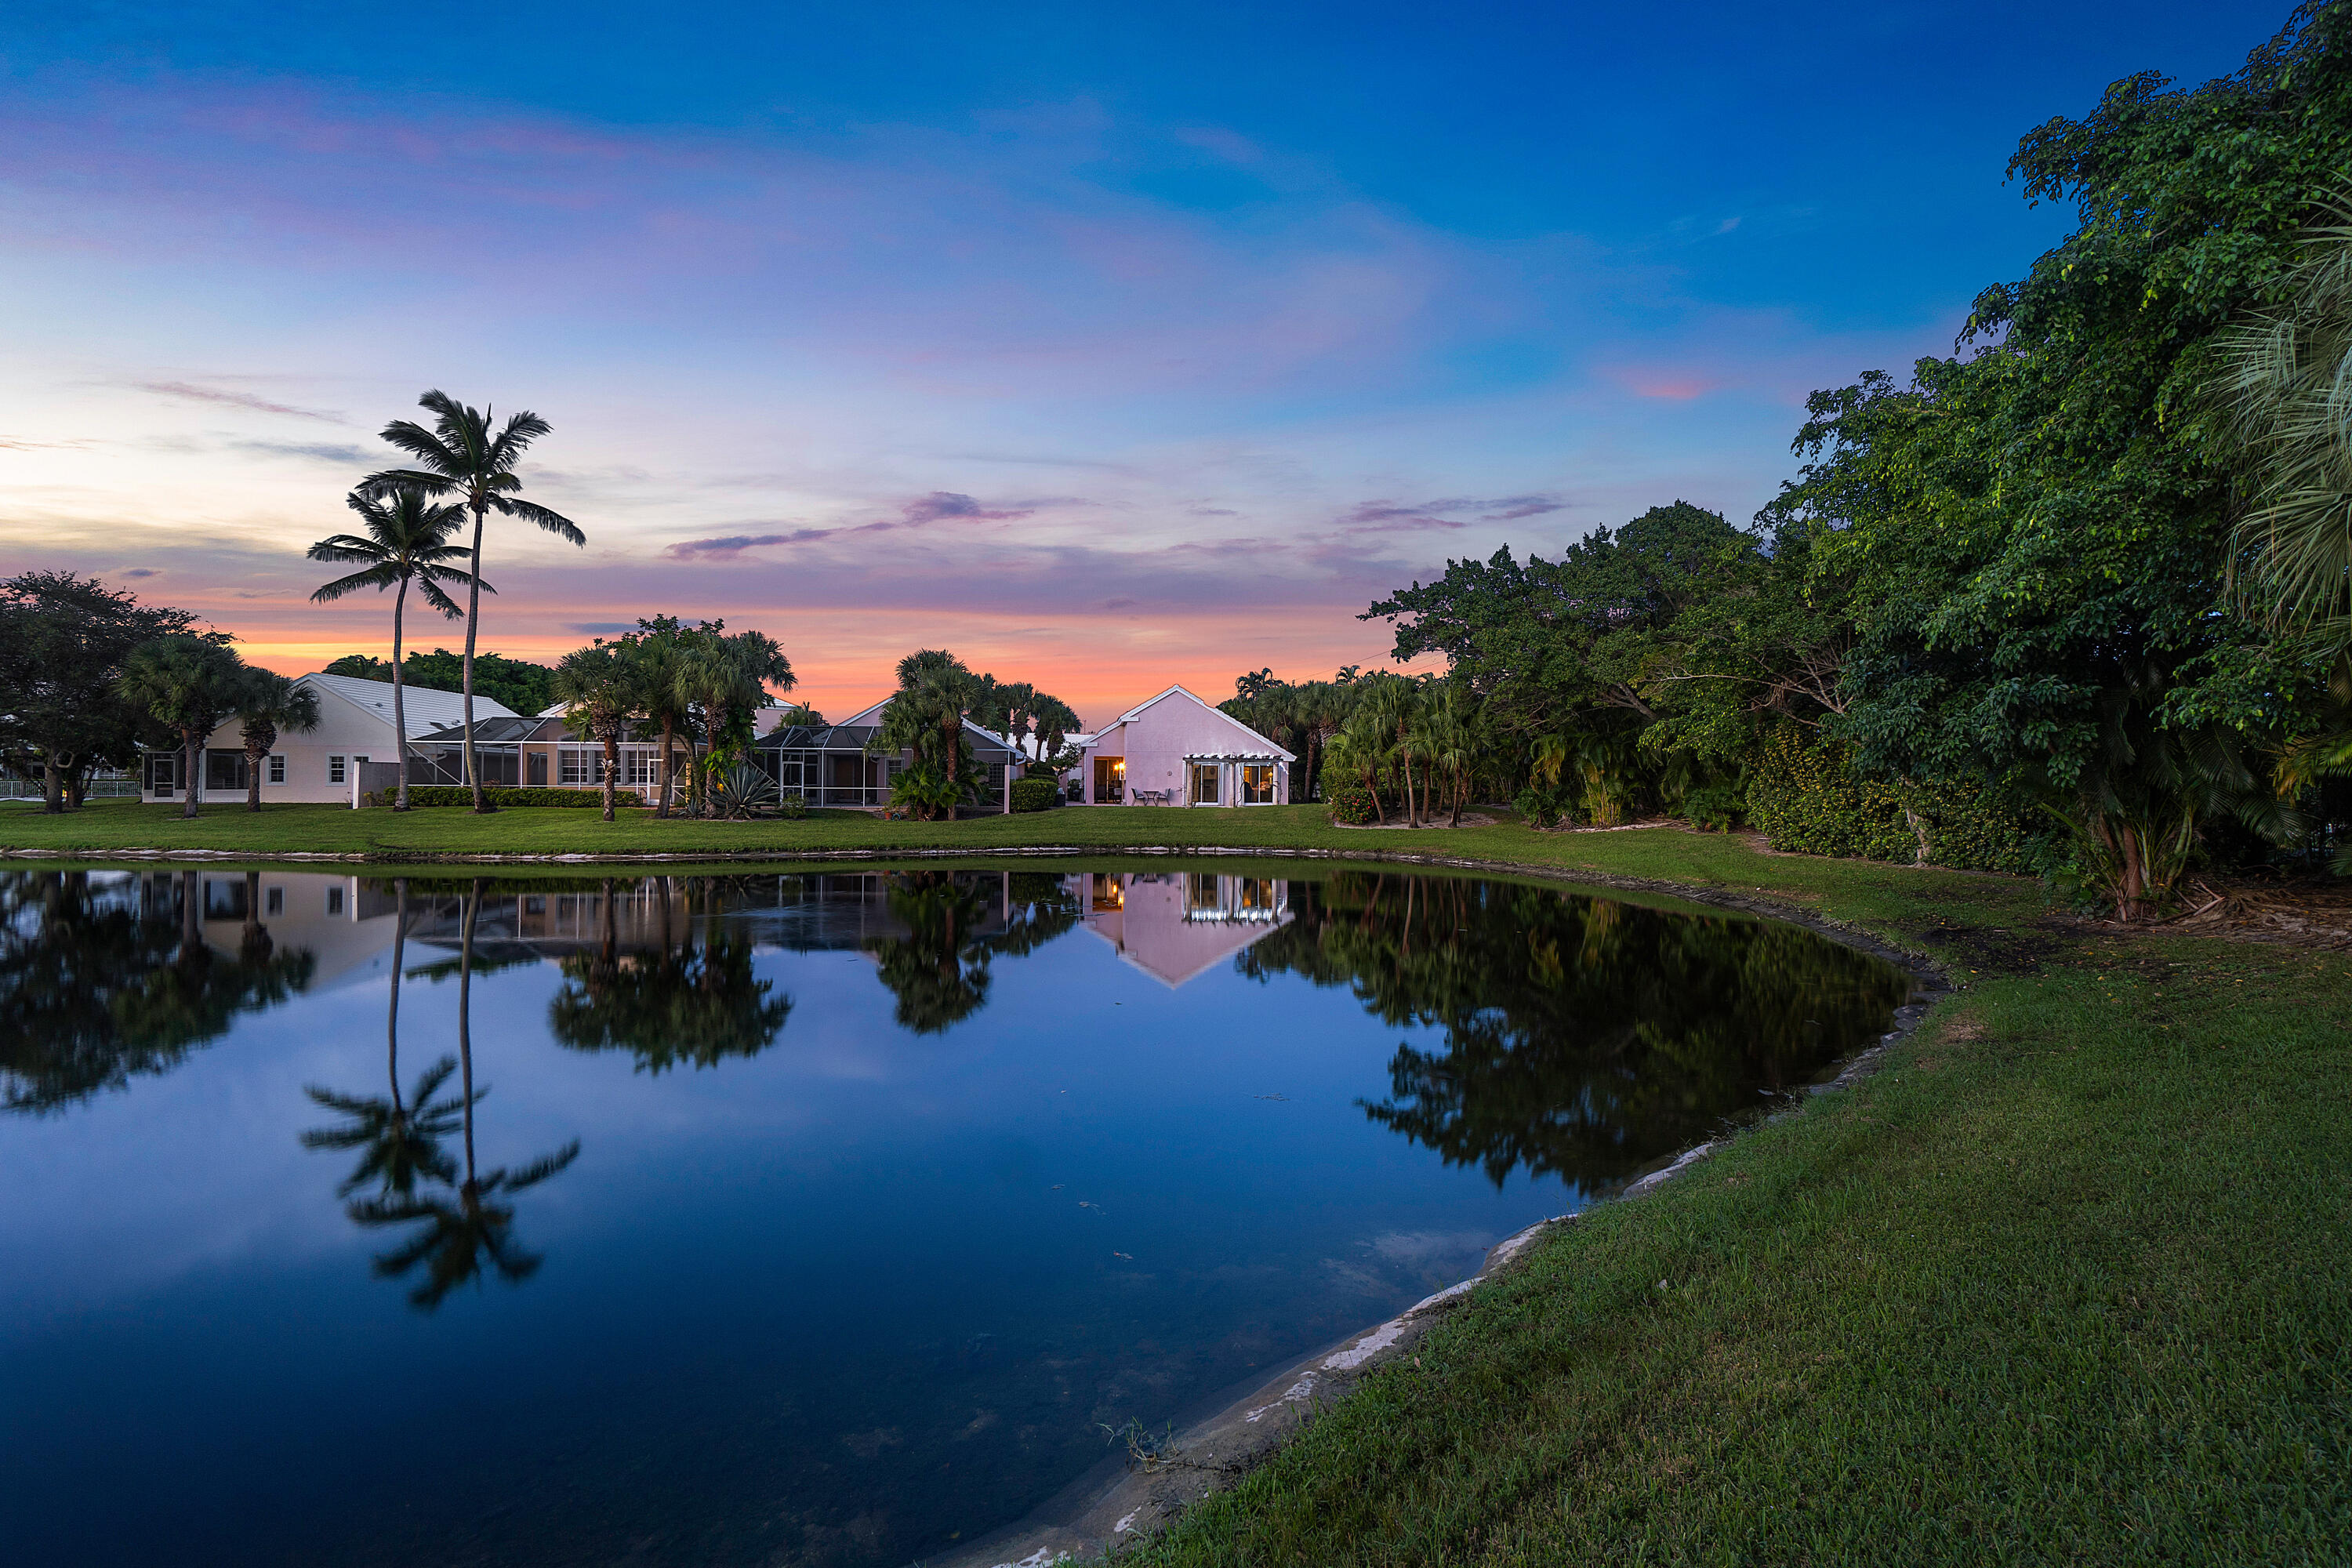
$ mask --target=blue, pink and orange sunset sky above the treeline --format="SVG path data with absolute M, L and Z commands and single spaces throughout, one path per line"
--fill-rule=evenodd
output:
M 2018 134 L 2286 9 L 14 7 L 0 571 L 381 654 L 303 548 L 445 388 L 588 534 L 492 524 L 501 654 L 724 616 L 828 712 L 948 646 L 1089 722 L 1371 665 L 1446 557 L 1745 522 L 2067 226 Z

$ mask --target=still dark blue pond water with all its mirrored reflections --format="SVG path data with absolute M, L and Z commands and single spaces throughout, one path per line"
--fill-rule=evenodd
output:
M 1392 870 L 0 872 L 7 1556 L 938 1554 L 1905 992 Z

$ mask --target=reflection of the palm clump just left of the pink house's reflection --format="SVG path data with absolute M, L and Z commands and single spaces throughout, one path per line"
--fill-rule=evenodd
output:
M 1077 900 L 1040 872 L 884 872 L 891 917 L 906 936 L 866 943 L 898 999 L 898 1027 L 938 1034 L 988 1004 L 990 964 L 1028 954 L 1070 931 Z M 1002 900 L 1002 910 L 997 907 Z M 1002 912 L 1002 924 L 990 929 Z

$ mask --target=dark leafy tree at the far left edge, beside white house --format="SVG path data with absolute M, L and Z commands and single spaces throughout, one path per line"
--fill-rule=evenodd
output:
M 195 625 L 183 609 L 71 571 L 0 581 L 0 766 L 40 778 L 52 813 L 82 804 L 94 766 L 136 766 L 151 719 L 120 693 L 125 661 Z

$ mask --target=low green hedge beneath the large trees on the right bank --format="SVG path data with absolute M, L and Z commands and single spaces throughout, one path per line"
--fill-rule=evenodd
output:
M 1863 778 L 1853 748 L 1783 726 L 1764 741 L 1748 816 L 1773 849 L 1910 860 L 1983 872 L 2037 872 L 2056 842 L 1973 783 Z

